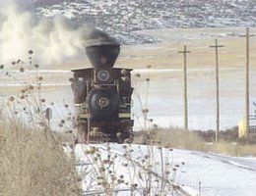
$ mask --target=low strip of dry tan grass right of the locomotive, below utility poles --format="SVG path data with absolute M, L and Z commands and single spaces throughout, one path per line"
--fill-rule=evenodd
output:
M 256 144 L 220 140 L 219 143 L 208 142 L 195 131 L 186 131 L 181 128 L 170 127 L 166 129 L 154 129 L 150 136 L 140 134 L 135 136 L 134 143 L 158 143 L 162 147 L 196 150 L 201 152 L 213 152 L 230 156 L 256 156 Z

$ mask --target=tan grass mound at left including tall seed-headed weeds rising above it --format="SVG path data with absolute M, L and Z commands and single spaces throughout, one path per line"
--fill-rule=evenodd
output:
M 81 194 L 75 159 L 65 154 L 49 130 L 42 97 L 39 66 L 21 60 L 20 75 L 4 70 L 20 84 L 0 108 L 0 196 L 76 196 Z M 34 78 L 23 73 L 33 71 Z M 19 90 L 21 88 L 21 91 Z

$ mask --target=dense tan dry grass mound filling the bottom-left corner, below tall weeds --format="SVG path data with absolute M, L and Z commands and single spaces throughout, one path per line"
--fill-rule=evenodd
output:
M 0 122 L 0 195 L 80 194 L 74 160 L 46 129 L 13 117 Z

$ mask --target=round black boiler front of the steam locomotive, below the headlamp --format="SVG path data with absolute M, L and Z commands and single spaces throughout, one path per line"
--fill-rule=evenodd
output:
M 118 110 L 119 97 L 112 89 L 98 88 L 90 93 L 88 103 L 93 117 L 109 119 Z

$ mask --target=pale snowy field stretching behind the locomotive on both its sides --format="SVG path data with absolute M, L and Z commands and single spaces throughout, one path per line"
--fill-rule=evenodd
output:
M 137 78 L 135 75 L 142 76 Z M 12 76 L 6 76 L 6 71 L 0 71 L 1 99 L 8 100 L 10 93 L 16 91 L 17 97 L 21 94 L 24 77 L 28 83 L 34 83 L 34 72 L 25 73 L 12 72 Z M 73 94 L 68 79 L 72 77 L 69 71 L 40 71 L 42 75 L 42 98 L 46 100 L 45 106 L 52 108 L 52 127 L 57 128 L 61 119 L 67 117 L 67 110 L 64 107 L 68 104 L 74 114 Z M 254 114 L 256 102 L 256 77 L 251 72 L 251 110 Z M 235 75 L 235 76 L 234 76 Z M 244 73 L 237 68 L 221 69 L 221 128 L 230 128 L 244 117 Z M 14 77 L 14 78 L 13 78 Z M 151 78 L 149 88 L 146 78 Z M 158 69 L 158 70 L 134 70 L 132 113 L 135 120 L 135 130 L 143 129 L 143 116 L 138 96 L 142 99 L 143 107 L 149 109 L 148 119 L 153 122 L 149 126 L 157 124 L 160 127 L 183 125 L 183 72 L 181 69 Z M 215 70 L 212 68 L 194 68 L 188 70 L 188 110 L 189 127 L 191 129 L 214 129 L 215 128 Z M 6 89 L 8 87 L 8 89 Z M 149 91 L 149 94 L 148 94 Z M 140 93 L 140 94 L 138 94 Z M 61 94 L 62 96 L 58 96 Z M 148 98 L 147 98 L 148 94 Z M 54 103 L 54 106 L 51 105 Z M 71 126 L 69 126 L 71 127 Z

